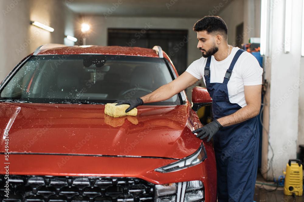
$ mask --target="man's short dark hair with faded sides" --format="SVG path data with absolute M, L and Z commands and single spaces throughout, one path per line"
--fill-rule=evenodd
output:
M 220 32 L 225 39 L 228 38 L 228 28 L 226 23 L 219 16 L 205 16 L 195 23 L 193 31 L 207 31 L 208 34 L 218 34 Z

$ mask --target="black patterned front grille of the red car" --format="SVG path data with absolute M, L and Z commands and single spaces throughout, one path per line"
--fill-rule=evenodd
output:
M 0 175 L 0 197 L 5 202 L 152 202 L 154 196 L 154 184 L 133 177 L 9 175 L 7 198 L 4 177 Z

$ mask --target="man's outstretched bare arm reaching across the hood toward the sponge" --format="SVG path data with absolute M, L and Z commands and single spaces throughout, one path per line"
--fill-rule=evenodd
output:
M 140 98 L 143 100 L 143 103 L 164 101 L 185 90 L 189 86 L 192 86 L 197 81 L 199 81 L 199 79 L 185 71 L 170 83 L 162 85 L 155 91 Z

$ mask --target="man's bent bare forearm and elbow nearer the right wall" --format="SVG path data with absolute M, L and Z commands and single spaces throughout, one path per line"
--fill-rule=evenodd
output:
M 233 114 L 218 118 L 217 121 L 222 126 L 237 124 L 260 113 L 262 85 L 244 86 L 246 106 L 237 110 Z

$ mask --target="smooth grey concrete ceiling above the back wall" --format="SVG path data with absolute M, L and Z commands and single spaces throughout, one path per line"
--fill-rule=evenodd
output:
M 219 15 L 233 0 L 73 0 L 67 6 L 79 14 L 126 17 L 201 18 Z

